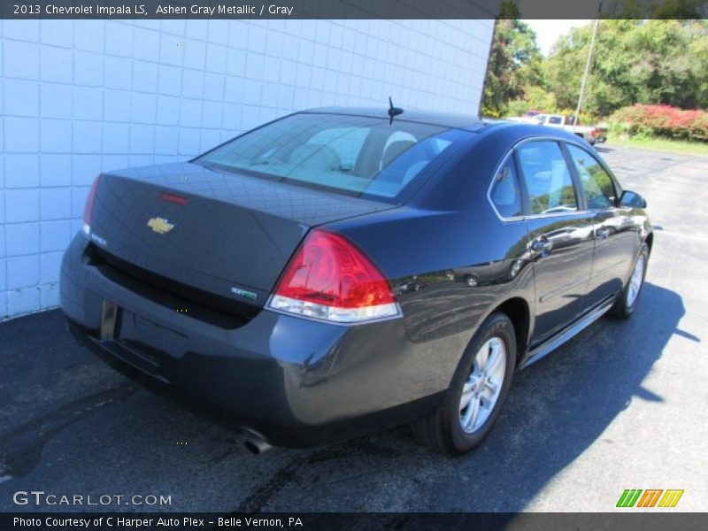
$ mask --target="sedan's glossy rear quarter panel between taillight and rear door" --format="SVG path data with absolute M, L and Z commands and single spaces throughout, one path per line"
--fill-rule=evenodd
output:
M 327 226 L 392 279 L 412 342 L 460 334 L 469 341 L 499 304 L 535 299 L 525 223 L 499 219 L 487 197 L 508 150 L 502 141 L 480 135 L 404 207 Z

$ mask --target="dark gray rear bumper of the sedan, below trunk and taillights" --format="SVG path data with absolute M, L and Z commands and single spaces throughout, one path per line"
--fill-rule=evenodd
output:
M 87 246 L 77 235 L 62 263 L 61 307 L 74 335 L 165 388 L 226 408 L 272 444 L 312 446 L 419 417 L 461 355 L 444 350 L 446 339 L 411 342 L 403 319 L 345 327 L 263 310 L 222 327 L 116 281 Z

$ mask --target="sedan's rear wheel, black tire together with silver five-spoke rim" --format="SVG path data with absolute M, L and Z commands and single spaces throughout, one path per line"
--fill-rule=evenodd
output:
M 413 425 L 413 433 L 435 450 L 463 454 L 489 434 L 509 392 L 516 363 L 512 321 L 494 313 L 467 346 L 443 404 Z

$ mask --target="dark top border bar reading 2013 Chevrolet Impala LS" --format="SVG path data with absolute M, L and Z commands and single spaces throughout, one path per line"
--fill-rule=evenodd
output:
M 504 6 L 504 9 L 503 9 Z M 704 19 L 708 0 L 3 0 L 0 19 Z

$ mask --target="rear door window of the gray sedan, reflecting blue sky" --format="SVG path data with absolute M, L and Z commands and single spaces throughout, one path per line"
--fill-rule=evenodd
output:
M 573 179 L 558 142 L 527 142 L 517 152 L 530 214 L 578 210 Z

